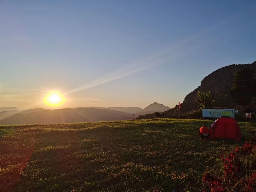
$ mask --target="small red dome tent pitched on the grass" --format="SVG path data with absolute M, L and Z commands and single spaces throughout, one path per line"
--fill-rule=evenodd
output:
M 238 123 L 231 117 L 220 117 L 209 127 L 209 139 L 241 140 L 241 131 Z

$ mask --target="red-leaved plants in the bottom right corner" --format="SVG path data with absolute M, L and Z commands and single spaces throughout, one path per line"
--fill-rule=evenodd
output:
M 204 182 L 208 184 L 211 191 L 256 191 L 255 162 L 248 167 L 250 170 L 247 170 L 247 165 L 244 165 L 239 158 L 244 156 L 253 156 L 255 161 L 255 140 L 255 132 L 253 132 L 253 139 L 249 144 L 246 141 L 243 147 L 237 147 L 226 158 L 220 155 L 224 166 L 222 178 L 218 178 L 208 172 L 204 175 Z M 244 167 L 246 168 L 246 172 L 244 171 Z M 225 181 L 228 181 L 228 185 Z

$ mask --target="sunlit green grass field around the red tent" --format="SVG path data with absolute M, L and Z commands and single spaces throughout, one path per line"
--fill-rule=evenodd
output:
M 211 120 L 1 126 L 1 191 L 203 191 L 205 170 L 250 140 L 200 140 Z

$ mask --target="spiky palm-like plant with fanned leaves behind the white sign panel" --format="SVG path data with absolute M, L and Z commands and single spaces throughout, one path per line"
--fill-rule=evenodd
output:
M 211 93 L 210 91 L 208 92 L 197 92 L 197 98 L 195 101 L 198 103 L 197 107 L 200 109 L 212 107 L 212 104 L 214 102 L 213 97 L 215 93 Z

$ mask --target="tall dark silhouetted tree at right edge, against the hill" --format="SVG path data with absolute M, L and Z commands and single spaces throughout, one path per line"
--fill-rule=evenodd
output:
M 233 87 L 229 90 L 234 102 L 243 110 L 255 100 L 255 71 L 252 68 L 242 68 L 234 73 Z M 245 118 L 245 110 L 244 110 Z

